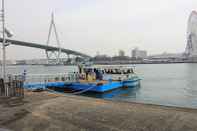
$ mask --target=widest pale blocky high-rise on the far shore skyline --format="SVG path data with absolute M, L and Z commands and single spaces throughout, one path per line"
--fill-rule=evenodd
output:
M 139 50 L 138 48 L 135 48 L 135 49 L 132 50 L 131 56 L 133 58 L 136 58 L 136 59 L 138 59 L 138 58 L 146 58 L 147 57 L 147 51 Z

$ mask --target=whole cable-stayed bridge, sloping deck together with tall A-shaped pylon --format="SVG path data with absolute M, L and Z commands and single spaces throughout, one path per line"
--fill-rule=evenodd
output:
M 55 33 L 55 37 L 56 37 L 56 46 L 50 46 L 50 37 L 51 37 L 51 33 L 54 30 Z M 5 32 L 6 33 L 6 32 Z M 7 36 L 12 36 L 9 35 L 10 32 L 7 31 Z M 0 38 L 0 42 L 3 42 L 3 39 Z M 83 58 L 91 58 L 90 56 L 78 52 L 78 51 L 73 51 L 73 50 L 69 50 L 69 49 L 65 49 L 61 47 L 60 41 L 59 41 L 59 37 L 58 37 L 58 33 L 56 30 L 56 25 L 55 25 L 55 21 L 54 21 L 54 15 L 52 13 L 51 15 L 51 23 L 50 23 L 50 27 L 49 27 L 49 34 L 48 34 L 48 39 L 47 39 L 47 43 L 45 44 L 38 44 L 38 43 L 32 43 L 32 42 L 24 42 L 24 41 L 18 41 L 18 40 L 12 40 L 12 39 L 6 39 L 6 43 L 11 43 L 12 45 L 18 45 L 18 46 L 25 46 L 25 47 L 32 47 L 32 48 L 38 48 L 38 49 L 43 49 L 45 50 L 46 53 L 46 57 L 48 60 L 48 63 L 50 63 L 50 61 L 52 61 L 52 63 L 54 64 L 60 64 L 62 63 L 62 54 L 66 54 L 68 56 L 68 59 L 70 58 L 70 55 L 74 55 L 74 56 L 80 56 Z

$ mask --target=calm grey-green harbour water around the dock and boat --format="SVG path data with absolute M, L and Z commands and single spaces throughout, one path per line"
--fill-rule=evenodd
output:
M 62 73 L 76 70 L 73 66 L 10 66 L 9 73 L 29 74 Z M 117 89 L 105 94 L 84 94 L 86 96 L 152 103 L 168 106 L 197 108 L 197 64 L 145 64 L 136 65 L 136 72 L 142 78 L 141 86 Z

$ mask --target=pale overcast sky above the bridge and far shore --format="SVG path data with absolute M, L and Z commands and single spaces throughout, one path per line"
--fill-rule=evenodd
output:
M 183 52 L 188 17 L 197 8 L 197 0 L 5 2 L 6 24 L 14 32 L 13 39 L 46 44 L 54 11 L 62 47 L 92 56 L 97 51 L 112 56 L 119 49 L 130 55 L 134 47 L 149 54 Z M 44 51 L 33 48 L 12 45 L 7 51 L 9 59 L 45 58 Z

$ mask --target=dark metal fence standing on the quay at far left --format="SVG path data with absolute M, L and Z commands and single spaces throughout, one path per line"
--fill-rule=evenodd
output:
M 0 79 L 0 96 L 24 97 L 23 77 L 8 76 L 6 80 Z

